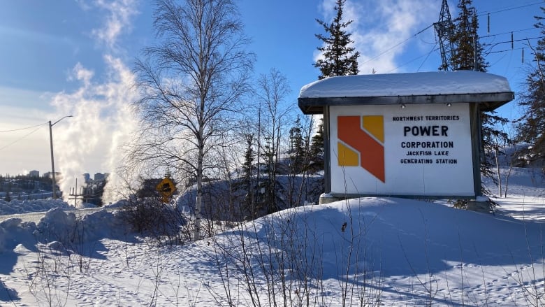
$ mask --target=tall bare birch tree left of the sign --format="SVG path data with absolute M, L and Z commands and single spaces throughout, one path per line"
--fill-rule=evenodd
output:
M 254 55 L 232 0 L 156 1 L 157 45 L 143 50 L 135 73 L 142 120 L 139 159 L 187 171 L 196 182 L 194 239 L 201 237 L 206 158 L 222 144 L 247 92 Z

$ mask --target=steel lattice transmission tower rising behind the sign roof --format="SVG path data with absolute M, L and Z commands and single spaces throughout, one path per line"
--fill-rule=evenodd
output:
M 447 3 L 446 0 L 443 0 L 439 21 L 433 24 L 433 28 L 437 33 L 439 48 L 441 50 L 442 64 L 439 69 L 442 71 L 451 71 L 453 69 L 451 58 L 454 50 L 452 39 L 454 35 L 454 24 L 449 11 L 449 3 Z

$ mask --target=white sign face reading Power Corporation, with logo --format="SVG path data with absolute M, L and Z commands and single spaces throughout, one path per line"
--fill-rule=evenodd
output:
M 331 192 L 474 196 L 470 104 L 330 106 Z

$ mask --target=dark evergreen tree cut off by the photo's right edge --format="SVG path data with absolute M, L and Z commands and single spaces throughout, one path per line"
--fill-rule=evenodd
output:
M 545 13 L 545 8 L 541 8 Z M 535 27 L 545 34 L 545 17 L 535 16 Z M 523 115 L 517 120 L 518 141 L 528 142 L 532 146 L 525 152 L 530 163 L 545 162 L 545 38 L 537 41 L 533 49 L 535 65 L 526 77 L 525 92 L 521 94 L 518 105 L 523 108 Z

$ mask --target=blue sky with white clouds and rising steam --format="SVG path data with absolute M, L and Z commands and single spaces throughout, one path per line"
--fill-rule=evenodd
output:
M 296 104 L 300 87 L 317 79 L 312 64 L 333 0 L 240 0 L 256 76 L 277 69 L 289 80 Z M 449 1 L 457 15 L 458 1 Z M 491 45 L 490 73 L 506 76 L 515 91 L 531 60 L 526 41 L 542 1 L 479 1 L 480 35 Z M 0 131 L 58 120 L 53 127 L 55 164 L 64 173 L 112 171 L 115 146 L 132 127 L 124 106 L 133 97 L 131 67 L 140 50 L 154 41 L 152 1 L 0 1 Z M 361 52 L 361 73 L 435 71 L 440 64 L 433 27 L 439 0 L 348 0 L 345 17 Z M 490 34 L 487 33 L 491 13 Z M 535 43 L 535 40 L 530 41 Z M 525 62 L 521 48 L 525 47 Z M 508 51 L 506 51 L 508 50 Z M 505 52 L 504 52 L 505 51 Z M 496 53 L 497 52 L 497 53 Z M 515 103 L 502 108 L 515 117 Z M 34 131 L 36 130 L 36 131 Z M 50 170 L 48 126 L 0 133 L 0 173 Z

